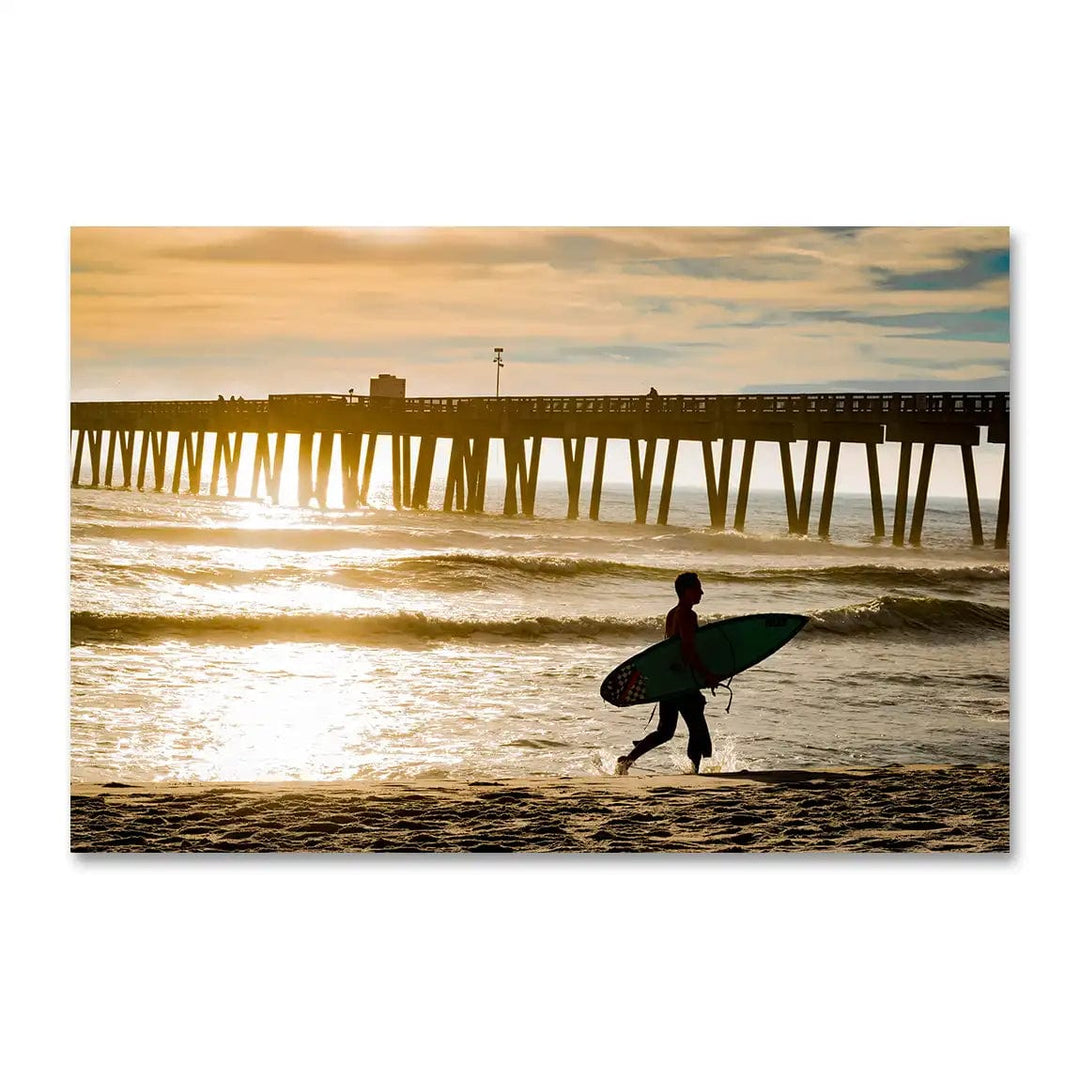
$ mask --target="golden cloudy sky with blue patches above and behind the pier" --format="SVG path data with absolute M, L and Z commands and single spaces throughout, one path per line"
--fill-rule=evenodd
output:
M 73 228 L 71 397 L 366 393 L 383 373 L 438 397 L 1008 390 L 1009 264 L 1007 228 Z M 964 491 L 953 449 L 931 495 Z M 1001 448 L 976 467 L 995 495 Z M 778 454 L 754 468 L 782 486 Z M 865 470 L 846 447 L 837 489 Z M 703 486 L 700 455 L 675 480 Z

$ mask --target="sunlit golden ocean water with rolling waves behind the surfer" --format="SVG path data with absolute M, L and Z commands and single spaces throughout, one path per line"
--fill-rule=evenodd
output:
M 693 488 L 666 526 L 633 524 L 629 484 L 605 485 L 599 522 L 567 521 L 559 484 L 531 519 L 490 512 L 490 482 L 484 514 L 370 501 L 72 488 L 71 780 L 611 773 L 656 716 L 600 681 L 662 636 L 688 569 L 702 623 L 810 617 L 708 698 L 703 771 L 1009 760 L 1008 552 L 972 546 L 963 499 L 931 497 L 924 546 L 902 549 L 854 495 L 827 542 L 788 536 L 775 491 L 743 534 L 710 528 Z M 680 721 L 634 771 L 688 768 Z

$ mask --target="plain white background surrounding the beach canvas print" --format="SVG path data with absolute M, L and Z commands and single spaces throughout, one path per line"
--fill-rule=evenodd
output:
M 43 482 L 9 487 L 3 532 L 16 1075 L 1055 1069 L 1076 961 L 1058 10 L 5 5 L 3 460 L 33 447 Z M 1013 853 L 70 855 L 67 243 L 122 224 L 1010 226 Z

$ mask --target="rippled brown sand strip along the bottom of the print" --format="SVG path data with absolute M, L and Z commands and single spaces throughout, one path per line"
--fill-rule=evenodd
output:
M 75 852 L 1009 850 L 1009 767 L 75 784 Z

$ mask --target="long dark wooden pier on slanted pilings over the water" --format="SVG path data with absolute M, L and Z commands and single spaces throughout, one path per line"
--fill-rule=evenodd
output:
M 367 501 L 377 448 L 390 444 L 392 497 L 399 509 L 485 510 L 492 442 L 501 444 L 507 488 L 502 513 L 534 513 L 543 440 L 562 443 L 567 517 L 581 512 L 586 441 L 594 441 L 589 516 L 598 519 L 608 444 L 629 443 L 634 515 L 649 522 L 653 470 L 663 449 L 663 474 L 654 521 L 667 523 L 677 455 L 700 455 L 712 526 L 728 527 L 732 449 L 742 444 L 742 468 L 730 526 L 742 530 L 752 495 L 759 444 L 774 444 L 780 457 L 788 531 L 806 536 L 818 483 L 819 451 L 824 475 L 816 534 L 828 537 L 837 464 L 845 444 L 866 457 L 874 536 L 887 534 L 878 447 L 900 446 L 896 496 L 891 508 L 892 543 L 919 544 L 931 470 L 937 447 L 959 447 L 971 523 L 972 544 L 984 543 L 972 448 L 983 440 L 1002 444 L 994 545 L 1009 543 L 1009 394 L 713 394 L 542 397 L 380 397 L 355 394 L 271 394 L 255 401 L 76 402 L 71 405 L 78 486 L 90 459 L 92 486 L 167 487 L 201 494 L 208 467 L 208 494 L 237 497 L 245 438 L 255 440 L 251 496 L 260 489 L 274 501 L 326 507 L 335 444 L 346 509 Z M 282 490 L 286 436 L 298 435 L 297 489 Z M 413 441 L 419 440 L 416 458 Z M 449 441 L 444 490 L 432 491 L 432 469 L 440 440 Z M 806 444 L 798 481 L 792 447 Z M 211 449 L 212 447 L 212 449 Z M 912 512 L 912 462 L 919 470 Z M 172 471 L 168 463 L 172 459 Z M 186 484 L 185 484 L 186 480 Z

